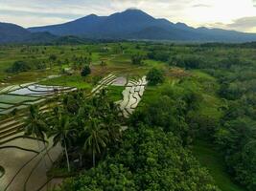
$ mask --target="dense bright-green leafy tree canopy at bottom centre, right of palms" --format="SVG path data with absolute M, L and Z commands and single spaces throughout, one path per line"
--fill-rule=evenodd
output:
M 219 190 L 207 171 L 173 133 L 139 125 L 129 129 L 114 154 L 66 180 L 61 190 Z

